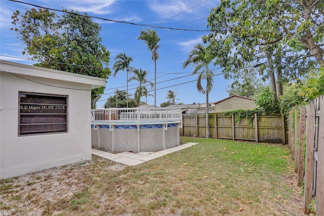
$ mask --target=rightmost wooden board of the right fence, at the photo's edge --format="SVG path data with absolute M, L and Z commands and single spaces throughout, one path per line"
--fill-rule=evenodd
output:
M 324 96 L 319 98 L 319 124 L 316 171 L 316 215 L 324 215 Z

